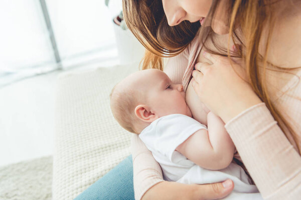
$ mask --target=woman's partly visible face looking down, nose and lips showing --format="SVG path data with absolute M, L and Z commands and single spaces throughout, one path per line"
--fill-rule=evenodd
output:
M 226 25 L 226 10 L 223 9 L 225 3 L 226 0 L 220 1 L 212 21 L 212 29 L 217 34 L 226 34 L 229 30 Z M 206 25 L 212 0 L 162 0 L 162 4 L 170 26 L 178 25 L 183 20 L 200 21 L 201 25 Z

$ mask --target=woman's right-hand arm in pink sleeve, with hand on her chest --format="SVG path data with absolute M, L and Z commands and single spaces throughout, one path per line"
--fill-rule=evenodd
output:
M 265 104 L 235 73 L 228 58 L 209 53 L 205 56 L 213 64 L 196 64 L 196 69 L 201 72 L 193 72 L 194 89 L 200 99 L 225 121 L 225 127 L 263 198 L 298 199 L 301 193 L 300 155 Z M 295 94 L 300 90 L 299 82 Z M 298 101 L 293 109 L 300 111 L 301 102 Z M 290 118 L 295 122 L 300 120 Z M 300 129 L 297 131 L 300 134 Z

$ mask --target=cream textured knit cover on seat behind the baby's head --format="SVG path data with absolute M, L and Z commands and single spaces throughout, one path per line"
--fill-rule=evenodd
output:
M 118 81 L 136 70 L 138 63 L 59 77 L 54 200 L 74 199 L 130 154 L 131 133 L 113 118 L 109 94 Z

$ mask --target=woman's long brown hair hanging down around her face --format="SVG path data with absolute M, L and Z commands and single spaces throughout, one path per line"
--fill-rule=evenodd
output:
M 243 53 L 236 56 L 241 56 L 244 59 L 246 72 L 253 90 L 265 102 L 282 131 L 287 129 L 291 133 L 296 141 L 298 151 L 301 153 L 296 140 L 296 132 L 291 128 L 283 114 L 277 110 L 266 89 L 264 71 L 268 63 L 269 38 L 275 22 L 271 7 L 276 1 L 279 0 L 228 0 L 226 9 L 228 9 L 229 40 L 231 38 L 234 42 L 242 44 Z M 216 13 L 215 11 L 220 2 L 220 0 L 213 0 L 206 23 L 212 23 L 208 19 L 214 18 L 214 13 Z M 199 22 L 191 23 L 186 20 L 179 25 L 169 26 L 163 10 L 162 0 L 123 0 L 123 14 L 129 29 L 147 49 L 142 69 L 163 69 L 163 57 L 175 56 L 181 53 L 200 28 Z M 265 53 L 262 56 L 258 51 L 264 25 L 268 25 L 269 31 Z M 234 27 L 236 28 L 234 29 Z M 242 32 L 242 36 L 238 36 L 237 31 Z M 212 35 L 214 33 L 211 28 L 201 28 L 200 37 L 204 45 L 207 39 L 214 42 Z M 220 52 L 213 53 L 230 56 L 229 46 L 228 49 L 223 49 L 218 45 L 215 46 Z M 261 67 L 264 69 L 263 72 L 260 69 Z M 278 68 L 282 70 L 280 67 Z M 286 134 L 285 131 L 283 132 Z

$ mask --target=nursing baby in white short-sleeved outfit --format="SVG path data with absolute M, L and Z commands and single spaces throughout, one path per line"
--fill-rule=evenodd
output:
M 110 98 L 115 119 L 139 134 L 165 180 L 204 184 L 230 178 L 234 189 L 224 199 L 262 199 L 244 170 L 231 162 L 235 146 L 221 118 L 204 108 L 200 113 L 207 124 L 193 119 L 183 85 L 163 71 L 130 74 L 115 85 Z

